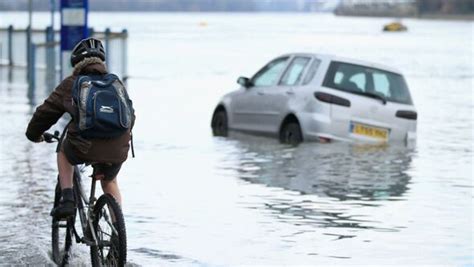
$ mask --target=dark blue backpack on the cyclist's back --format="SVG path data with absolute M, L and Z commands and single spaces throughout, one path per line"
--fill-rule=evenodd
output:
M 72 99 L 79 134 L 86 139 L 118 137 L 131 127 L 132 101 L 114 74 L 79 76 Z

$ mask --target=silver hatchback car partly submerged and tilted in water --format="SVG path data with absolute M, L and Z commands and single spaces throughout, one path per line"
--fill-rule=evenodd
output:
M 417 112 L 402 74 L 331 55 L 282 55 L 220 100 L 213 133 L 278 137 L 283 143 L 416 139 Z

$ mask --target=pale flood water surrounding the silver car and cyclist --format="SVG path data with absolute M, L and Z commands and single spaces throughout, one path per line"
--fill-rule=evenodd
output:
M 2 27 L 26 21 L 0 13 Z M 119 176 L 129 262 L 473 265 L 473 23 L 407 19 L 408 32 L 382 33 L 389 21 L 92 13 L 95 28 L 130 33 L 137 157 Z M 419 114 L 416 145 L 212 136 L 213 108 L 238 76 L 299 51 L 401 69 Z M 28 99 L 24 77 L 0 69 L 0 263 L 50 264 L 55 147 L 24 136 L 48 89 Z M 73 250 L 88 264 L 86 247 Z

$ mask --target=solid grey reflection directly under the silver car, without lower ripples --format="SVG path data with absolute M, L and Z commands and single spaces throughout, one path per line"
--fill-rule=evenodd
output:
M 407 191 L 410 149 L 396 146 L 240 142 L 239 177 L 302 194 L 345 200 L 397 200 Z

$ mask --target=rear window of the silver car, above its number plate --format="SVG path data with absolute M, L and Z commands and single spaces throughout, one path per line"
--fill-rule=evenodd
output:
M 376 68 L 333 61 L 323 86 L 383 101 L 413 104 L 402 75 Z

